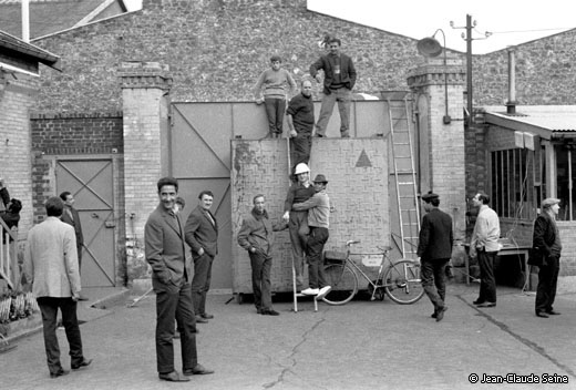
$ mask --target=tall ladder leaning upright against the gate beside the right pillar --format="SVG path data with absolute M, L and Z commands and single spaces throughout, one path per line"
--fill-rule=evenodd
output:
M 403 258 L 416 258 L 420 233 L 420 203 L 416 189 L 416 173 L 410 129 L 408 101 L 387 100 L 390 120 L 390 141 L 393 160 L 392 176 L 395 182 L 398 219 L 400 228 L 399 249 Z

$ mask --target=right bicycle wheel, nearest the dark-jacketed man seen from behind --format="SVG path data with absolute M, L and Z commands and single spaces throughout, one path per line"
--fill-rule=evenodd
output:
M 410 305 L 424 295 L 420 279 L 420 264 L 412 260 L 401 260 L 391 265 L 384 276 L 385 294 L 394 302 Z

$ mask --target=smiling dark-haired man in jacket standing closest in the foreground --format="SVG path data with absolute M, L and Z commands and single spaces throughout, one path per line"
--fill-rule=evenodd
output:
M 146 261 L 152 267 L 152 287 L 156 292 L 156 362 L 158 377 L 173 382 L 189 381 L 186 376 L 212 373 L 198 363 L 194 308 L 191 298 L 189 264 L 186 244 L 174 203 L 178 182 L 163 177 L 157 183 L 160 205 L 144 227 Z M 181 332 L 182 376 L 174 369 L 174 320 Z

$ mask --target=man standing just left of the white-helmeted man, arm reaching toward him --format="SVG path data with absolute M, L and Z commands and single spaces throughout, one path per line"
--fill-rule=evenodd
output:
M 238 232 L 238 245 L 248 250 L 251 265 L 254 305 L 263 316 L 279 316 L 272 308 L 270 269 L 272 266 L 272 232 L 282 230 L 285 225 L 272 225 L 265 208 L 264 195 L 253 199 L 254 208 L 245 216 Z

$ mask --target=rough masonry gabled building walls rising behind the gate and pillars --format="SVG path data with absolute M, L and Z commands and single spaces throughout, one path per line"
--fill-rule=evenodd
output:
M 41 110 L 120 110 L 115 70 L 122 61 L 169 65 L 175 100 L 251 100 L 271 54 L 280 54 L 299 79 L 323 52 L 318 42 L 326 32 L 337 32 L 342 51 L 354 60 L 358 92 L 405 90 L 408 70 L 422 61 L 416 40 L 310 12 L 306 0 L 145 0 L 140 12 L 33 42 L 61 55 L 64 69 L 43 68 Z M 521 104 L 576 103 L 575 41 L 572 30 L 517 47 Z M 473 57 L 473 86 L 475 104 L 507 100 L 506 50 Z

